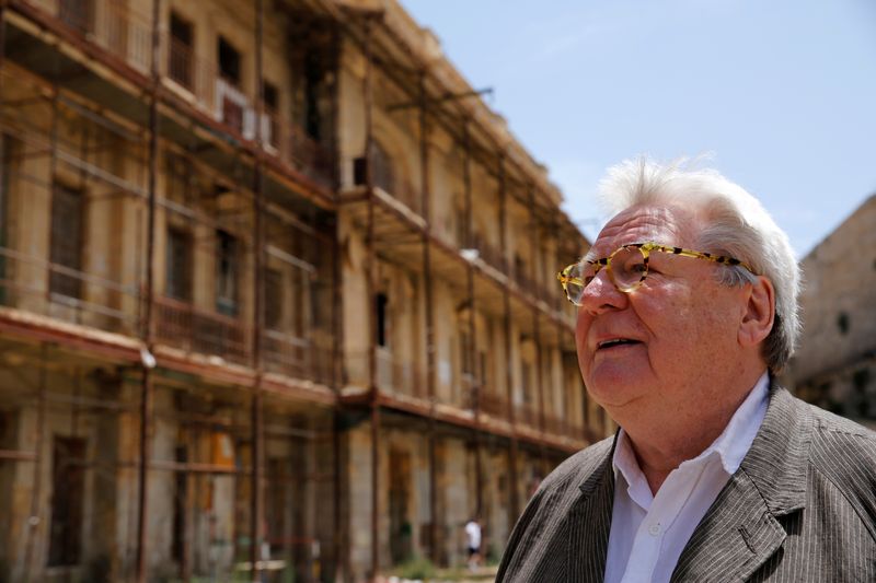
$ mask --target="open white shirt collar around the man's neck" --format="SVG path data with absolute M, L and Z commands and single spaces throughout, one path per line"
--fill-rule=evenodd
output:
M 758 382 L 749 392 L 746 399 L 736 409 L 736 412 L 730 418 L 727 427 L 724 428 L 721 435 L 712 442 L 712 445 L 706 447 L 700 455 L 693 459 L 683 462 L 682 466 L 701 465 L 704 464 L 713 455 L 717 455 L 721 464 L 727 475 L 733 476 L 739 469 L 748 450 L 751 448 L 751 443 L 758 434 L 763 417 L 766 415 L 766 404 L 770 394 L 770 375 L 766 371 L 761 374 Z M 621 428 L 618 435 L 618 445 L 614 448 L 614 456 L 612 457 L 612 467 L 614 468 L 615 478 L 622 475 L 626 480 L 630 490 L 650 489 L 647 486 L 645 476 L 638 467 L 633 446 L 630 443 L 630 438 L 626 432 Z M 634 492 L 631 491 L 631 494 Z M 642 492 L 643 494 L 645 492 Z

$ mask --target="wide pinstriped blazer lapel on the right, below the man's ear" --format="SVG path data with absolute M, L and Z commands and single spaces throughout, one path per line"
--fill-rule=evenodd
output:
M 807 411 L 773 385 L 751 448 L 679 557 L 672 581 L 745 581 L 782 546 L 806 503 Z

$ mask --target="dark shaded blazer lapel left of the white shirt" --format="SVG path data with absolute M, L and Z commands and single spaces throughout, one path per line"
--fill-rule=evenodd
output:
M 613 452 L 614 445 L 600 468 L 581 485 L 581 494 L 569 510 L 565 558 L 568 583 L 596 583 L 604 578 L 614 504 Z

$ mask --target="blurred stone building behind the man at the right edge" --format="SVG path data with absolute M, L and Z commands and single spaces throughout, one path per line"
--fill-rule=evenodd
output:
M 800 397 L 876 428 L 876 195 L 802 266 L 804 334 L 789 383 Z

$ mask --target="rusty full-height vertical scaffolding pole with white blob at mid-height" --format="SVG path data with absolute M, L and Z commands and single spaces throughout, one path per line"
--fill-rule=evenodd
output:
M 140 400 L 140 467 L 138 469 L 138 499 L 137 499 L 137 582 L 146 583 L 147 580 L 147 502 L 148 502 L 148 471 L 151 448 L 149 444 L 150 415 L 152 410 L 152 374 L 154 358 L 152 357 L 152 308 L 154 305 L 154 246 L 155 246 L 155 200 L 158 179 L 158 90 L 159 90 L 159 58 L 161 55 L 161 0 L 152 0 L 152 62 L 151 86 L 149 93 L 149 175 L 148 175 L 148 210 L 146 233 L 146 289 L 143 291 L 143 336 L 145 353 L 142 361 L 142 388 Z

